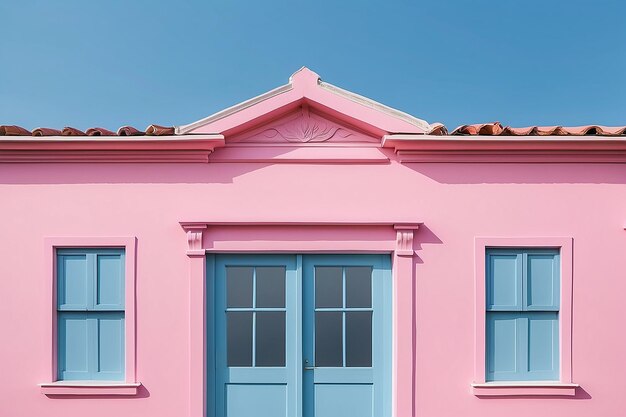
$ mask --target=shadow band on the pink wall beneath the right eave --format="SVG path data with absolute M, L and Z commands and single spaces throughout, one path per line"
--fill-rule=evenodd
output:
M 626 184 L 622 164 L 406 163 L 441 184 Z

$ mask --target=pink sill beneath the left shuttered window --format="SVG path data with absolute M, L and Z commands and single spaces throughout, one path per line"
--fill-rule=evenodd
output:
M 45 395 L 137 395 L 141 382 L 56 381 L 39 384 Z

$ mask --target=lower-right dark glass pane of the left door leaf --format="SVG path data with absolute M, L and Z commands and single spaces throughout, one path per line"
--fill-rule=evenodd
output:
M 285 312 L 256 313 L 256 366 L 285 366 Z

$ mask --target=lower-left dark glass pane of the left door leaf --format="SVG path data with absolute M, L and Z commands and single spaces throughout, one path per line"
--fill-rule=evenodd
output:
M 226 313 L 228 366 L 252 366 L 252 312 Z

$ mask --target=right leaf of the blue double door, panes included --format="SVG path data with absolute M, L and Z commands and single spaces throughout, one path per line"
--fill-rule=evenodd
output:
M 389 258 L 305 256 L 303 280 L 304 417 L 388 416 Z

